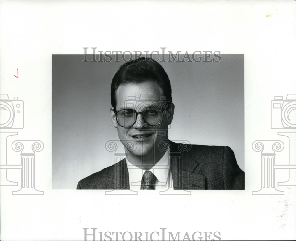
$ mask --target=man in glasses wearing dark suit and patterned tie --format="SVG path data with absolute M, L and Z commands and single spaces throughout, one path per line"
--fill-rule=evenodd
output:
M 126 158 L 78 182 L 77 189 L 244 189 L 229 147 L 168 140 L 174 115 L 170 80 L 149 58 L 120 66 L 111 83 L 110 114 Z

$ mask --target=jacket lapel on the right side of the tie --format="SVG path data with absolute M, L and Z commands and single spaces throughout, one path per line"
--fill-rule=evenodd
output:
M 179 148 L 179 144 L 170 142 L 170 168 L 174 189 L 205 189 L 205 176 L 194 173 L 198 163 Z

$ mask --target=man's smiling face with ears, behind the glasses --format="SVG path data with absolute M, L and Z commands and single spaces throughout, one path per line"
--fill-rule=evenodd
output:
M 162 96 L 161 88 L 154 81 L 145 81 L 138 84 L 122 84 L 115 93 L 116 111 L 128 109 L 141 112 L 141 114 L 137 115 L 136 122 L 132 126 L 123 127 L 117 123 L 113 107 L 110 109 L 113 126 L 117 128 L 118 137 L 123 145 L 127 147 L 128 142 L 131 141 L 136 143 L 137 148 L 132 151 L 133 155 L 139 157 L 142 155 L 151 155 L 153 151 L 158 150 L 160 141 L 168 139 L 168 124 L 173 119 L 174 105 L 169 103 L 164 108 L 164 101 L 161 101 Z M 149 101 L 150 99 L 151 101 Z M 153 114 L 153 108 L 157 109 L 157 107 L 159 107 L 157 115 L 163 116 L 162 122 L 149 126 L 144 121 L 144 118 L 148 120 L 149 115 Z M 145 112 L 145 110 L 147 111 Z M 130 113 L 126 112 L 124 116 L 129 116 Z M 128 150 L 128 148 L 126 149 Z

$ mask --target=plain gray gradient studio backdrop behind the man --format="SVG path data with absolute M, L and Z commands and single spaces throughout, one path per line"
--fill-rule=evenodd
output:
M 244 55 L 220 56 L 220 62 L 160 63 L 175 104 L 168 136 L 227 145 L 244 170 Z M 52 55 L 52 189 L 76 189 L 82 178 L 114 164 L 114 153 L 105 148 L 118 140 L 109 113 L 110 85 L 124 62 L 115 62 L 115 56 L 111 62 L 83 60 L 84 55 Z M 117 152 L 124 152 L 122 144 Z

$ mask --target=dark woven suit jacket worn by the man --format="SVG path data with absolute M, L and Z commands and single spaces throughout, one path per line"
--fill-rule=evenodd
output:
M 174 189 L 244 189 L 244 172 L 230 147 L 168 143 Z M 129 189 L 126 160 L 80 180 L 77 189 Z

